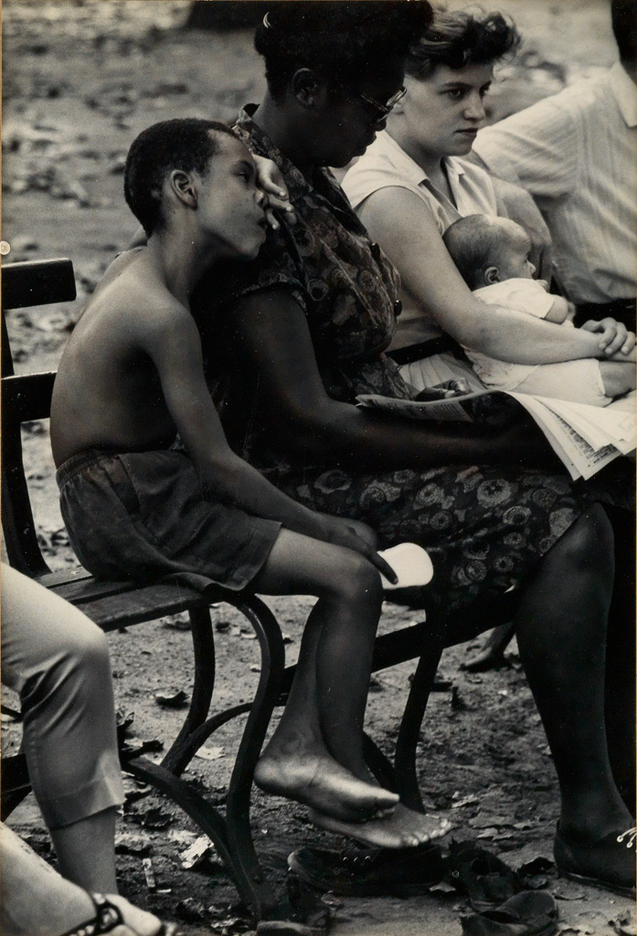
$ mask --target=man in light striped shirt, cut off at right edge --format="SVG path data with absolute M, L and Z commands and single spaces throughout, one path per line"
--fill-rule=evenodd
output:
M 620 61 L 478 133 L 473 153 L 536 199 L 554 273 L 580 321 L 635 328 L 637 4 L 613 0 Z

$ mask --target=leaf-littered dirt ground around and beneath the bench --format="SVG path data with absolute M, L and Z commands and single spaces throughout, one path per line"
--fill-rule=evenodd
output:
M 461 6 L 458 3 L 452 6 Z M 18 369 L 54 368 L 65 338 L 109 261 L 137 225 L 123 203 L 123 158 L 139 130 L 182 115 L 231 118 L 258 100 L 260 63 L 246 32 L 221 35 L 181 30 L 184 0 L 55 0 L 3 5 L 3 232 L 10 260 L 70 256 L 79 296 L 74 303 L 11 314 L 9 334 Z M 526 41 L 517 63 L 500 69 L 492 119 L 554 93 L 615 58 L 604 0 L 502 0 Z M 57 507 L 46 427 L 24 433 L 36 519 L 51 567 L 74 559 Z M 271 602 L 294 660 L 311 600 Z M 219 685 L 213 705 L 249 699 L 258 651 L 239 617 L 215 608 Z M 417 621 L 418 613 L 387 603 L 383 629 Z M 134 712 L 132 730 L 166 746 L 182 711 L 155 695 L 192 691 L 191 638 L 180 618 L 138 625 L 109 636 L 117 702 Z M 459 669 L 477 642 L 446 651 L 448 688 L 431 696 L 420 745 L 422 788 L 454 823 L 460 841 L 478 840 L 518 867 L 551 857 L 557 782 L 539 716 L 514 648 L 497 672 Z M 413 665 L 377 675 L 369 695 L 369 733 L 391 752 Z M 453 689 L 453 692 L 452 692 Z M 6 700 L 11 704 L 7 694 Z M 3 716 L 5 752 L 20 726 Z M 210 739 L 188 776 L 205 782 L 223 803 L 239 743 L 239 724 Z M 157 754 L 160 757 L 161 754 Z M 121 889 L 129 899 L 179 922 L 187 936 L 249 929 L 214 855 L 182 867 L 196 839 L 193 826 L 166 802 L 127 781 L 118 838 Z M 32 797 L 12 814 L 15 827 L 50 855 Z M 340 841 L 312 828 L 301 807 L 253 797 L 253 829 L 265 868 L 282 888 L 285 859 L 303 844 Z M 149 874 L 152 871 L 154 882 Z M 606 936 L 634 932 L 631 901 L 544 873 L 557 897 L 561 931 Z M 343 899 L 335 903 L 337 936 L 457 936 L 467 904 L 442 889 L 413 899 Z

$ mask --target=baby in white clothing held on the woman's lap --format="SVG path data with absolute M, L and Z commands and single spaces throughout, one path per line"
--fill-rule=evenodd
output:
M 443 235 L 460 275 L 483 302 L 535 315 L 572 328 L 574 308 L 534 280 L 527 232 L 509 218 L 470 214 Z M 581 358 L 557 364 L 512 364 L 465 348 L 473 370 L 488 388 L 516 390 L 606 406 L 635 388 L 632 361 Z

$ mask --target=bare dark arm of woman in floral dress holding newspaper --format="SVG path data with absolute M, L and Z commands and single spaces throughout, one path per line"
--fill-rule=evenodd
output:
M 332 400 L 305 314 L 286 290 L 244 297 L 229 314 L 242 373 L 252 372 L 258 381 L 260 413 L 272 414 L 266 429 L 299 461 L 326 461 L 328 453 L 334 467 L 368 471 L 545 461 L 539 435 L 528 425 L 493 431 L 468 423 L 415 422 Z

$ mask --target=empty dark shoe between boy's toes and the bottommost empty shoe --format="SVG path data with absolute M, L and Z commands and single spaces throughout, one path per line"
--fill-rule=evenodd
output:
M 473 841 L 452 841 L 447 864 L 447 881 L 478 913 L 499 907 L 524 888 L 512 868 Z

